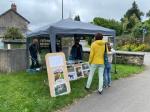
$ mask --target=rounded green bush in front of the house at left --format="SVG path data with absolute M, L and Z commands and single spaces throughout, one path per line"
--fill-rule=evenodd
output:
M 10 27 L 4 33 L 4 39 L 23 39 L 23 35 L 18 28 Z

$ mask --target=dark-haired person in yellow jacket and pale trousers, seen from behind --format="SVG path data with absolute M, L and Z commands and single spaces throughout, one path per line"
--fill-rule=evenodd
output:
M 98 92 L 100 94 L 102 94 L 103 91 L 104 53 L 106 44 L 106 41 L 102 39 L 103 35 L 101 33 L 97 33 L 95 35 L 95 41 L 91 45 L 89 56 L 90 74 L 88 76 L 87 84 L 85 86 L 85 89 L 89 90 L 94 72 L 98 68 L 98 76 L 99 76 Z

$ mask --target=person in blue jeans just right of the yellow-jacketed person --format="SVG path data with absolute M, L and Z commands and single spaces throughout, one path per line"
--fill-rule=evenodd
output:
M 103 87 L 110 87 L 111 86 L 111 66 L 112 66 L 112 59 L 113 59 L 113 54 L 115 53 L 115 50 L 111 48 L 110 43 L 107 43 L 108 47 L 108 63 L 105 64 L 105 69 L 104 69 L 104 84 Z

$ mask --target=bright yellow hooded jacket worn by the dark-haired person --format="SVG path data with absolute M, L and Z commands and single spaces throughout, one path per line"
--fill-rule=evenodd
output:
M 96 40 L 92 43 L 89 64 L 104 64 L 105 43 L 104 40 Z

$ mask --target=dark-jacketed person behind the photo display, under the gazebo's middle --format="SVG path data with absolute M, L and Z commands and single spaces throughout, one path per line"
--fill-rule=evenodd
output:
M 70 59 L 71 60 L 82 60 L 82 45 L 79 44 L 80 39 L 75 39 L 75 44 L 72 46 Z

